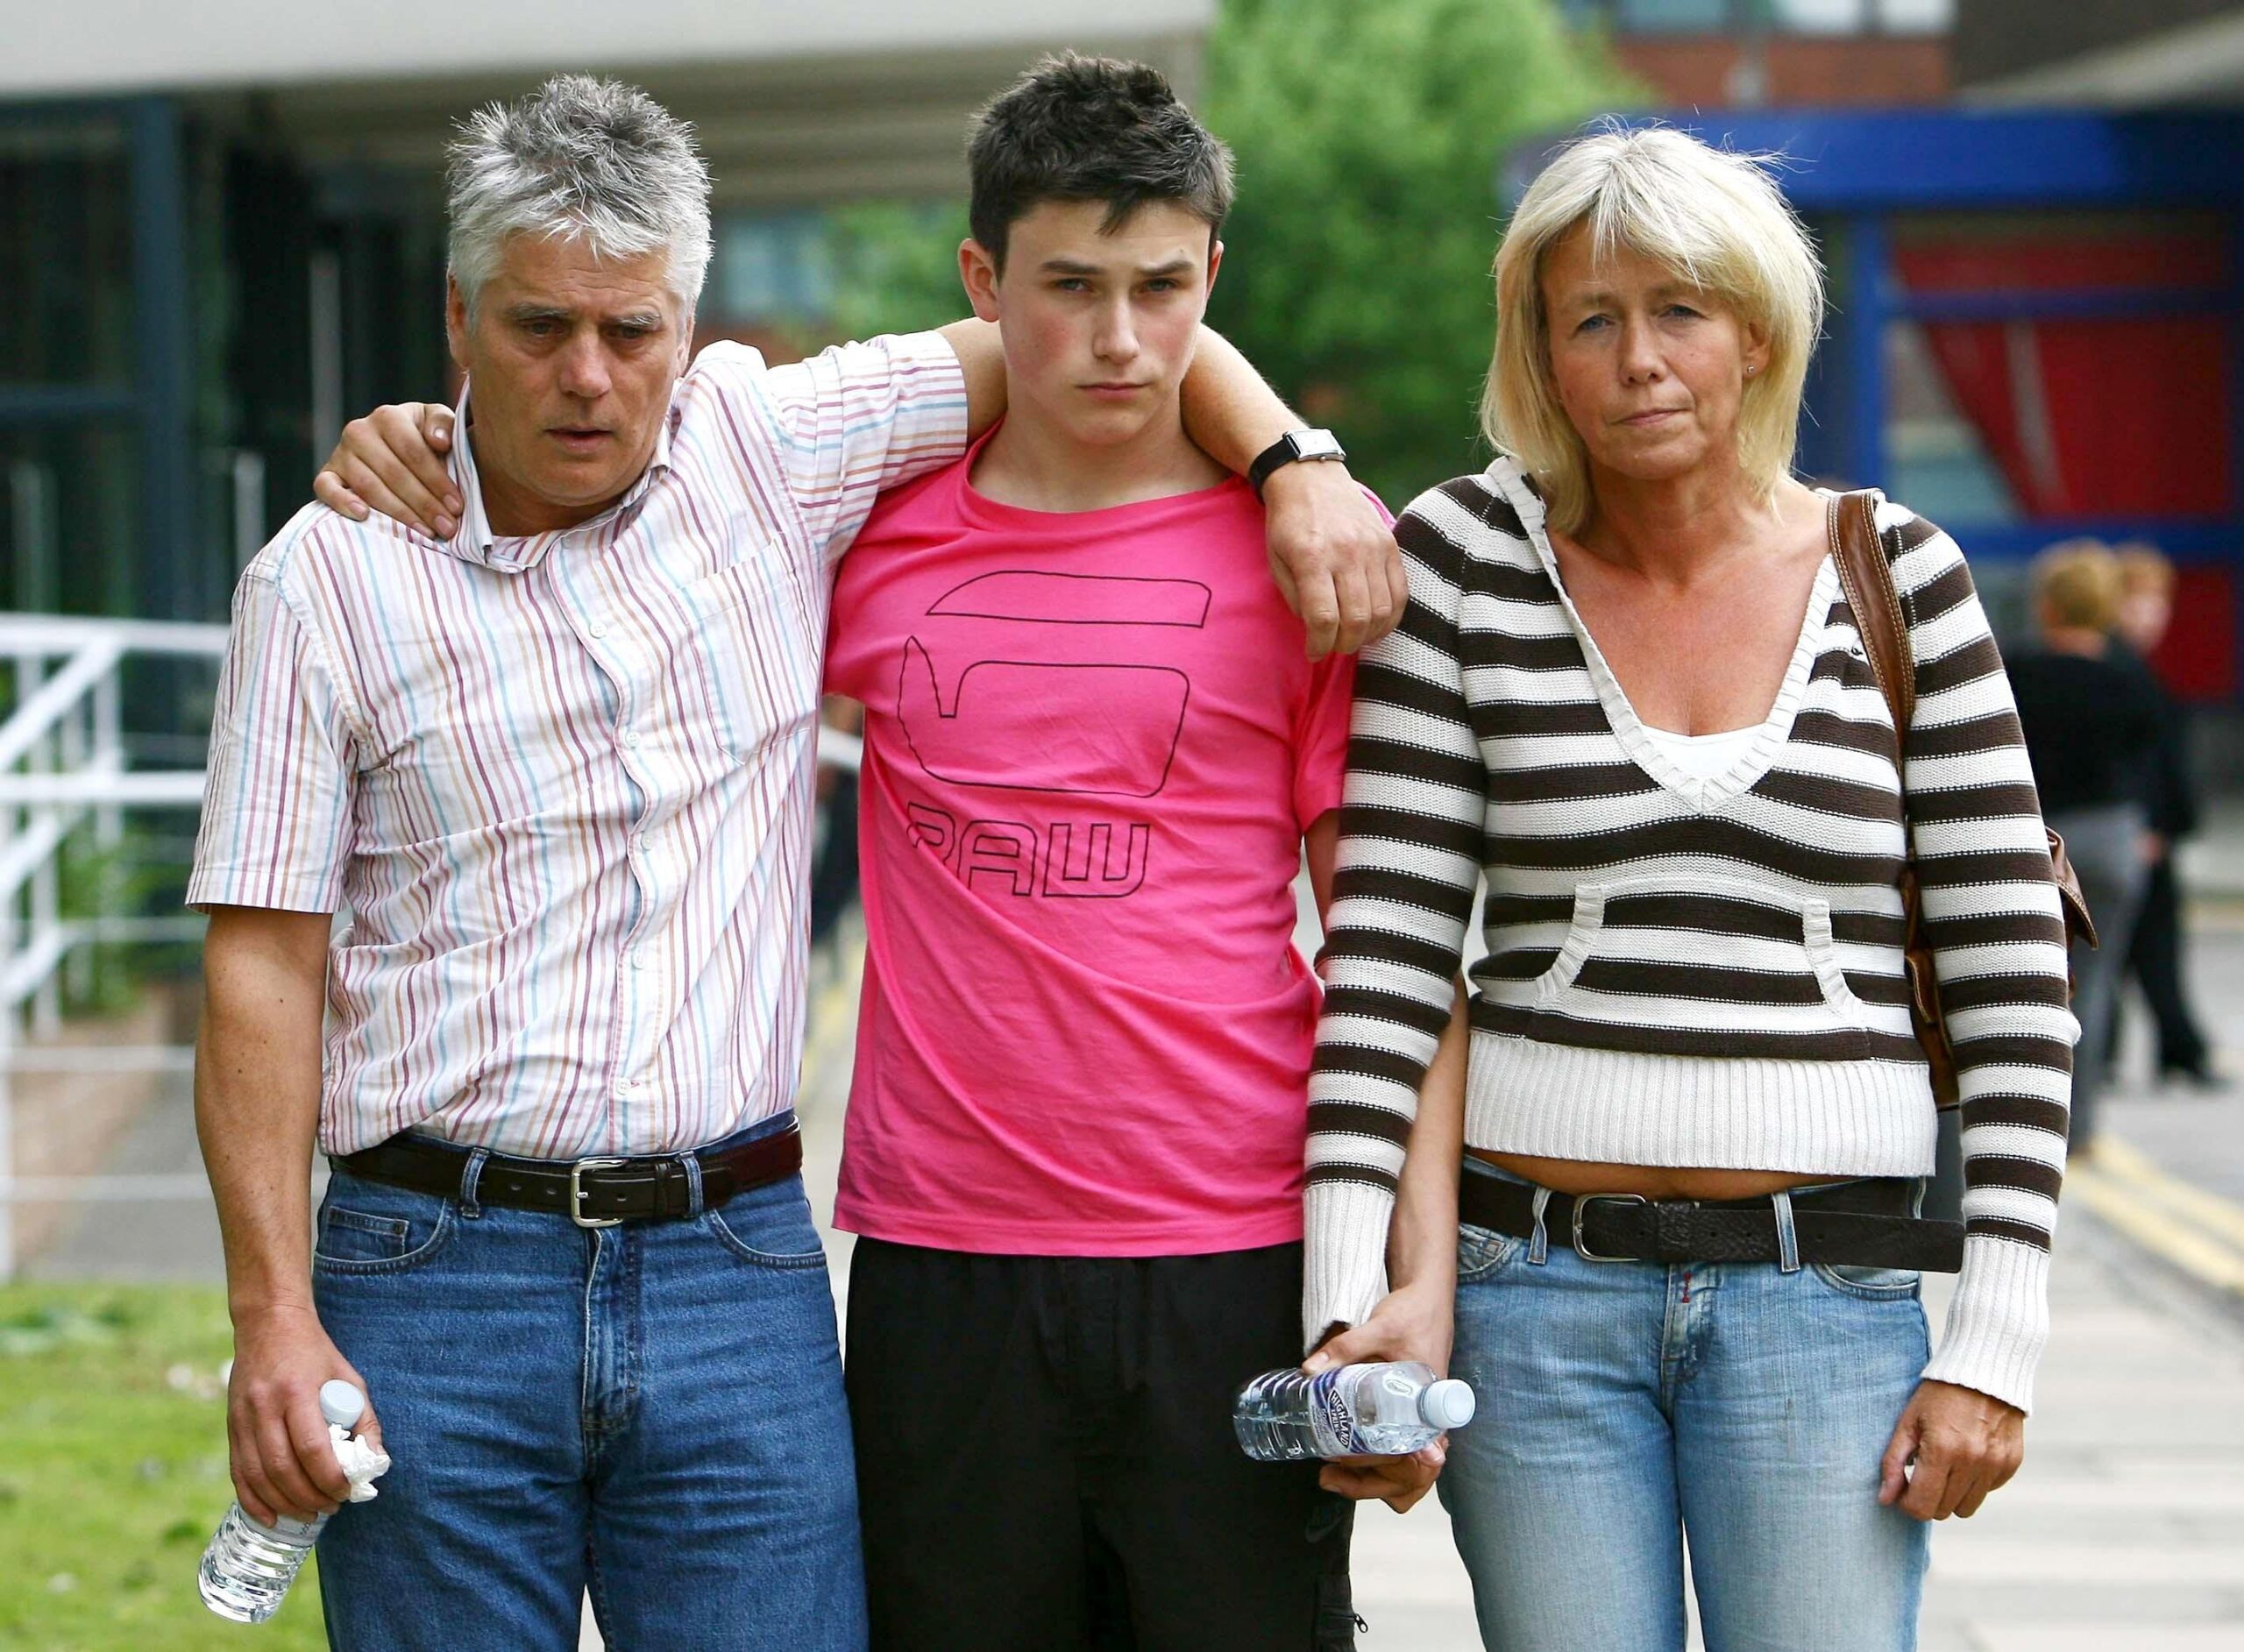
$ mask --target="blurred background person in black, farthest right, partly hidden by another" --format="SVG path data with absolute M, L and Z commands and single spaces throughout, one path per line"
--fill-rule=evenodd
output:
M 2174 563 L 2156 545 L 2130 543 L 2116 552 L 2121 572 L 2118 626 L 2112 662 L 2141 673 L 2159 696 L 2159 745 L 2145 765 L 2143 808 L 2150 817 L 2145 853 L 2150 878 L 2134 920 L 2125 974 L 2143 988 L 2159 1035 L 2159 1077 L 2201 1091 L 2219 1089 L 2213 1053 L 2190 1012 L 2183 965 L 2181 878 L 2177 846 L 2197 830 L 2197 772 L 2190 759 L 2190 714 L 2152 669 L 2152 658 L 2174 617 Z M 2112 992 L 2107 1059 L 2118 1059 L 2123 992 Z

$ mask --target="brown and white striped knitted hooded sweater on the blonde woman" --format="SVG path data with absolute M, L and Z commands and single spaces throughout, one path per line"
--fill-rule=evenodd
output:
M 1894 723 L 1829 561 L 1759 736 L 1710 781 L 1645 736 L 1499 458 L 1396 525 L 1409 613 L 1355 678 L 1310 1080 L 1304 1329 L 1362 1320 L 1474 891 L 1472 1147 L 1923 1176 L 1914 844 L 1964 1091 L 1966 1259 L 1928 1376 L 2029 1405 L 2076 1026 L 2033 774 L 1955 541 L 1878 505 L 1919 660 Z M 1907 839 L 1905 839 L 1907 833 Z

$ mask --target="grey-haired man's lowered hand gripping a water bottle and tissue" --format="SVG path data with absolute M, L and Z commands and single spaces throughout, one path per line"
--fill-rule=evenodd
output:
M 274 1515 L 316 1520 L 334 1513 L 350 1481 L 328 1443 L 319 1414 L 319 1385 L 343 1378 L 366 1394 L 366 1378 L 350 1369 L 312 1309 L 263 1309 L 233 1324 L 233 1376 L 227 1380 L 227 1446 L 233 1495 L 260 1524 Z M 381 1446 L 373 1401 L 352 1430 Z

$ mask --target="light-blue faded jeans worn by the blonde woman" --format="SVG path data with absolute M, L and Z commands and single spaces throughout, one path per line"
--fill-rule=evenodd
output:
M 1456 1261 L 1450 1374 L 1481 1410 L 1438 1484 L 1490 1648 L 1681 1652 L 1685 1540 L 1708 1652 L 1916 1645 L 1925 1526 L 1878 1506 L 1928 1353 L 1914 1273 L 1472 1226 Z

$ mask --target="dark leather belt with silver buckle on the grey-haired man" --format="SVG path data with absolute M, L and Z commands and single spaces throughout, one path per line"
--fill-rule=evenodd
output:
M 471 1149 L 433 1136 L 390 1136 L 334 1163 L 352 1176 L 395 1187 L 460 1199 Z M 803 1167 L 803 1134 L 794 1125 L 723 1151 L 657 1154 L 651 1158 L 512 1158 L 489 1154 L 476 1176 L 476 1203 L 507 1210 L 545 1210 L 579 1228 L 613 1228 L 619 1221 L 666 1221 L 693 1210 L 687 1158 L 700 1163 L 702 1210 L 716 1210 L 734 1194 Z

